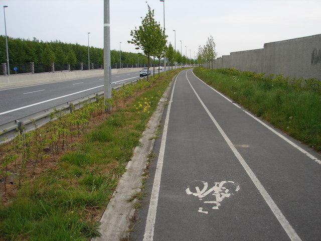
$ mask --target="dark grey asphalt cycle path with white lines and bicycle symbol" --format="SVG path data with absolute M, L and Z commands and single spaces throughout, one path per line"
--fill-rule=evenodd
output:
M 320 155 L 176 78 L 132 240 L 321 240 Z

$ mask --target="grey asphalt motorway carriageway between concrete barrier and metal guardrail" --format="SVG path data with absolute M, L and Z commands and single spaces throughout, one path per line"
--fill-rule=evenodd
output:
M 113 88 L 139 78 L 139 71 L 112 75 Z M 103 76 L 0 90 L 0 125 L 103 90 Z

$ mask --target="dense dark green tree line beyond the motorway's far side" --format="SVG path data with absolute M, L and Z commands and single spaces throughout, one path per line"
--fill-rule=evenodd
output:
M 7 62 L 6 37 L 0 35 L 0 60 Z M 51 63 L 76 64 L 88 63 L 88 46 L 63 43 L 61 41 L 43 42 L 36 38 L 33 40 L 8 37 L 9 63 L 29 63 L 50 65 Z M 103 64 L 103 49 L 89 47 L 90 63 Z M 139 58 L 139 59 L 138 59 Z M 121 63 L 147 64 L 147 57 L 139 53 L 121 51 Z M 111 65 L 119 63 L 119 51 L 110 51 Z

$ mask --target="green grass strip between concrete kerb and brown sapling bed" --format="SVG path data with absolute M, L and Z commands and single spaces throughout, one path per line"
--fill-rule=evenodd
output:
M 71 144 L 74 151 L 61 156 L 55 168 L 25 178 L 11 203 L 0 207 L 0 240 L 89 240 L 99 236 L 99 222 L 92 220 L 91 213 L 104 210 L 148 119 L 177 72 L 129 85 L 131 92 L 144 91 L 87 130 L 82 141 Z M 127 92 L 123 97 L 129 97 Z

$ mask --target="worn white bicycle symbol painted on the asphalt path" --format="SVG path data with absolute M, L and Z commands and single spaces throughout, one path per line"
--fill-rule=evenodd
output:
M 224 198 L 230 197 L 231 195 L 233 195 L 234 193 L 240 190 L 240 186 L 232 181 L 215 182 L 215 185 L 210 189 L 208 189 L 209 187 L 208 183 L 205 181 L 194 181 L 192 183 L 193 184 L 196 183 L 196 185 L 198 186 L 196 186 L 195 184 L 191 185 L 191 186 L 194 186 L 195 188 L 193 188 L 191 191 L 191 188 L 188 187 L 185 190 L 186 193 L 188 195 L 193 194 L 194 196 L 199 197 L 199 199 L 202 201 L 203 199 L 207 199 L 206 201 L 204 201 L 204 203 L 214 204 L 212 209 L 219 209 L 219 206 L 221 206 L 220 202 L 223 201 Z M 201 185 L 203 186 L 202 190 L 200 189 L 198 183 L 201 183 Z M 214 200 L 208 200 L 208 198 L 205 198 L 210 193 L 212 193 Z M 209 198 L 209 199 L 212 199 L 212 198 Z M 201 213 L 208 214 L 208 211 L 203 211 L 203 207 L 200 207 L 198 211 Z

